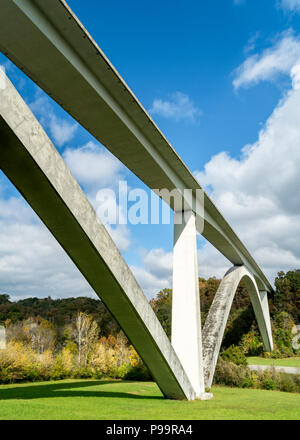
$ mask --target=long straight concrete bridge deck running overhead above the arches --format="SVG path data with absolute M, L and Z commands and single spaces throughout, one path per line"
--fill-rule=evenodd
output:
M 151 189 L 201 189 L 64 0 L 1 0 L 0 50 Z M 198 232 L 272 290 L 207 194 L 204 213 L 196 195 L 185 202 Z

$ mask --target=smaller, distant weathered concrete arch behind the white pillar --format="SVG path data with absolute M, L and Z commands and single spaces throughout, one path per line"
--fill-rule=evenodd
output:
M 258 290 L 254 277 L 245 266 L 234 266 L 221 281 L 204 324 L 203 358 L 206 387 L 211 387 L 233 298 L 241 282 L 250 295 L 264 348 L 266 351 L 273 350 L 267 292 Z

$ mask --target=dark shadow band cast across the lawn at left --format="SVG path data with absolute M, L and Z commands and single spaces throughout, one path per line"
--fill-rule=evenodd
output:
M 136 383 L 127 381 L 126 383 Z M 43 399 L 43 398 L 58 398 L 58 397 L 109 397 L 109 398 L 123 398 L 123 399 L 163 399 L 162 396 L 143 396 L 130 393 L 130 392 L 119 392 L 119 391 L 102 391 L 102 390 L 78 390 L 78 388 L 95 387 L 103 385 L 118 385 L 120 382 L 116 381 L 100 381 L 100 380 L 85 380 L 80 382 L 56 382 L 51 384 L 26 384 L 18 385 L 16 387 L 9 387 L 7 389 L 0 390 L 0 401 L 1 400 L 12 400 L 12 399 Z M 141 382 L 142 384 L 142 382 Z

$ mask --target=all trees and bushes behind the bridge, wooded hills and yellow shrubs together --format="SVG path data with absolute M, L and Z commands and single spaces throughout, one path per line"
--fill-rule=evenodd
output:
M 199 279 L 204 324 L 220 280 Z M 167 335 L 171 333 L 172 291 L 164 289 L 150 304 Z M 269 298 L 273 353 L 293 356 L 292 327 L 300 321 L 300 271 L 280 272 Z M 0 323 L 7 348 L 0 350 L 0 383 L 102 378 L 149 380 L 151 375 L 130 341 L 106 309 L 92 298 L 27 298 L 11 301 L 0 295 Z M 300 391 L 300 379 L 275 372 L 256 374 L 246 356 L 263 354 L 263 345 L 249 295 L 238 288 L 221 347 L 215 383 L 230 386 Z

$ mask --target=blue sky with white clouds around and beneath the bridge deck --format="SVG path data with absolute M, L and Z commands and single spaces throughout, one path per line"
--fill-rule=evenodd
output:
M 88 5 L 87 5 L 88 3 Z M 300 268 L 300 0 L 69 0 L 270 281 Z M 97 209 L 144 188 L 0 54 L 0 64 Z M 171 287 L 171 225 L 107 225 L 148 298 Z M 199 238 L 199 276 L 230 267 Z M 94 295 L 0 175 L 0 292 Z

